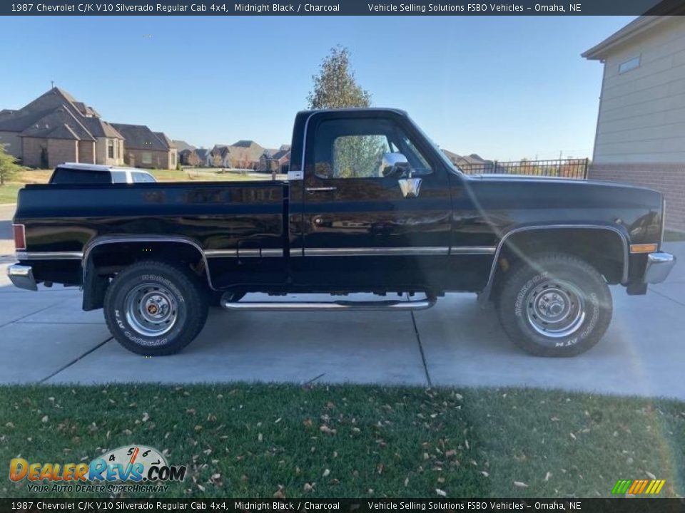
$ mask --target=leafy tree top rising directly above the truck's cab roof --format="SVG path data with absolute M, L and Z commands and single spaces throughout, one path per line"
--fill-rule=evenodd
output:
M 355 78 L 350 64 L 350 51 L 343 46 L 330 49 L 318 75 L 312 76 L 314 88 L 307 101 L 310 109 L 369 107 L 371 94 Z

